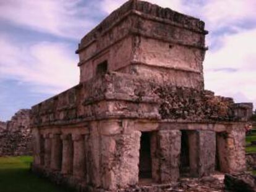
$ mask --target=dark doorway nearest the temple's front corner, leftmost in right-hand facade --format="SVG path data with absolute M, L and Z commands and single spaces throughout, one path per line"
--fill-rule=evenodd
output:
M 150 132 L 142 132 L 140 138 L 139 178 L 152 178 Z

